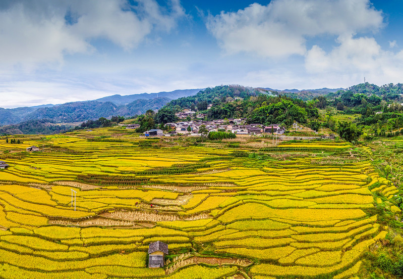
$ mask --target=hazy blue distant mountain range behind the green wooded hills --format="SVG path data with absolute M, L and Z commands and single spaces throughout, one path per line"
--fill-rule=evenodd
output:
M 263 88 L 263 87 L 262 87 Z M 335 92 L 339 89 L 285 89 L 276 90 L 272 88 L 263 88 L 269 91 L 279 93 L 298 94 L 299 92 L 309 91 L 312 94 L 326 94 Z M 69 123 L 86 121 L 89 119 L 98 119 L 100 117 L 109 118 L 113 115 L 134 116 L 145 113 L 147 110 L 158 110 L 171 100 L 182 97 L 196 95 L 200 88 L 174 90 L 169 92 L 143 93 L 135 95 L 112 95 L 96 100 L 84 102 L 71 102 L 60 105 L 41 105 L 35 107 L 21 107 L 15 109 L 0 108 L 0 126 L 21 123 L 28 120 L 48 119 L 54 123 Z

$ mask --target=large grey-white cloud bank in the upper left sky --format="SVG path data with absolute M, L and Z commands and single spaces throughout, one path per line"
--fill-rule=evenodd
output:
M 155 0 L 136 6 L 126 0 L 10 1 L 0 8 L 0 60 L 3 66 L 60 63 L 66 54 L 93 52 L 96 38 L 131 50 L 154 29 L 170 31 L 184 14 L 178 0 L 169 9 Z

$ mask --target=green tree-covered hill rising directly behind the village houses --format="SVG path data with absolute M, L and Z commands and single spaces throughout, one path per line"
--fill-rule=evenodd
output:
M 212 105 L 208 110 L 207 104 Z M 317 108 L 324 106 L 326 106 L 324 97 L 305 102 L 281 95 L 269 95 L 260 88 L 221 85 L 206 88 L 196 96 L 171 101 L 165 106 L 164 111 L 191 109 L 203 112 L 208 120 L 247 118 L 248 123 L 291 125 L 294 121 L 300 123 L 314 121 L 319 116 Z

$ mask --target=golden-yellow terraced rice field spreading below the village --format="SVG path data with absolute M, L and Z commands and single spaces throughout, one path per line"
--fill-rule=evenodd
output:
M 387 234 L 371 213 L 373 192 L 396 191 L 369 161 L 262 161 L 80 136 L 43 142 L 52 150 L 3 159 L 2 278 L 341 279 Z M 149 269 L 157 240 L 174 256 Z

